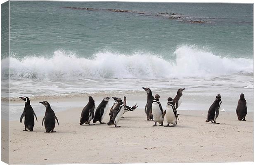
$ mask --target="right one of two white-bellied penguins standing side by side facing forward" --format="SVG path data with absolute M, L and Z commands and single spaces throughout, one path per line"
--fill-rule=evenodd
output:
M 173 98 L 168 97 L 166 110 L 164 111 L 164 114 L 163 114 L 163 118 L 164 118 L 164 115 L 166 115 L 166 121 L 167 121 L 167 125 L 164 127 L 174 127 L 177 124 L 177 119 L 179 120 L 177 110 L 172 103 L 173 103 Z M 169 126 L 170 123 L 172 124 L 171 126 Z

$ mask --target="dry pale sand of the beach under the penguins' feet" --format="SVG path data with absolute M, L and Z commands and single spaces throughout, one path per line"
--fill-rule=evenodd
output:
M 118 125 L 79 125 L 81 108 L 56 113 L 54 133 L 44 133 L 42 116 L 33 132 L 10 122 L 10 163 L 172 163 L 253 161 L 253 113 L 238 121 L 220 112 L 220 124 L 205 123 L 206 111 L 178 111 L 176 127 L 151 127 L 143 109 L 124 114 Z M 104 122 L 109 120 L 108 113 Z M 166 125 L 166 122 L 164 123 Z

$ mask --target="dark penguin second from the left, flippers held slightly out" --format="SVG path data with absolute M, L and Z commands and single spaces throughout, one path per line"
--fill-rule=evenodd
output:
M 57 120 L 57 123 L 59 125 L 58 118 L 56 117 L 54 111 L 52 110 L 50 104 L 47 101 L 39 102 L 43 104 L 46 108 L 45 116 L 43 117 L 43 121 L 45 120 L 45 132 L 56 132 L 54 131 L 55 128 L 55 119 Z M 42 121 L 42 126 L 43 126 Z

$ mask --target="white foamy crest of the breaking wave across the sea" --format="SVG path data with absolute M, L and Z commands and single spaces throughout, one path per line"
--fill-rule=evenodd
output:
M 150 53 L 118 54 L 99 52 L 91 58 L 61 50 L 50 58 L 10 57 L 11 78 L 83 79 L 83 78 L 186 78 L 253 73 L 253 60 L 219 57 L 190 46 L 179 47 L 176 59 Z M 3 59 L 2 63 L 4 62 Z M 2 66 L 2 74 L 8 65 Z M 5 75 L 2 75 L 5 76 Z

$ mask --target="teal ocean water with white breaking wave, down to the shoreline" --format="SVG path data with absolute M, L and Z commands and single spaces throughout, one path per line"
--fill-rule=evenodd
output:
M 13 99 L 186 88 L 181 109 L 253 111 L 253 4 L 10 1 L 1 57 Z

